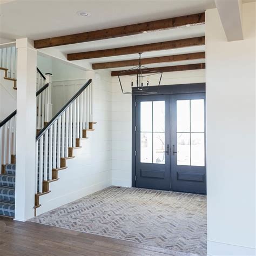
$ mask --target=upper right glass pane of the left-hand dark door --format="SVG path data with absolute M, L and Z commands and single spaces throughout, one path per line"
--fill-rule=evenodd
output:
M 153 131 L 165 131 L 165 102 L 153 102 Z

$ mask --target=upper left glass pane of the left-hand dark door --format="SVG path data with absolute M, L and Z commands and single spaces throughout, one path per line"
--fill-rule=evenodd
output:
M 152 132 L 152 102 L 140 103 L 140 131 Z

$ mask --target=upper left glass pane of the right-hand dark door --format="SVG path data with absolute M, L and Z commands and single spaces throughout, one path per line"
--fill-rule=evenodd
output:
M 177 100 L 177 132 L 190 132 L 190 100 Z

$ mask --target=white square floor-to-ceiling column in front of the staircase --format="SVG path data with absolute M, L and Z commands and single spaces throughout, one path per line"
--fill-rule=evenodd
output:
M 17 138 L 15 220 L 33 217 L 36 164 L 37 51 L 28 38 L 17 39 Z

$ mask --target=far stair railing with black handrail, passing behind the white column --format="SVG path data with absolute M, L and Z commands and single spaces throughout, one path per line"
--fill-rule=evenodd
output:
M 36 93 L 37 98 L 41 97 L 48 87 L 49 84 L 45 84 L 39 89 Z M 0 123 L 0 166 L 12 163 L 12 157 L 16 154 L 16 114 L 17 110 Z

